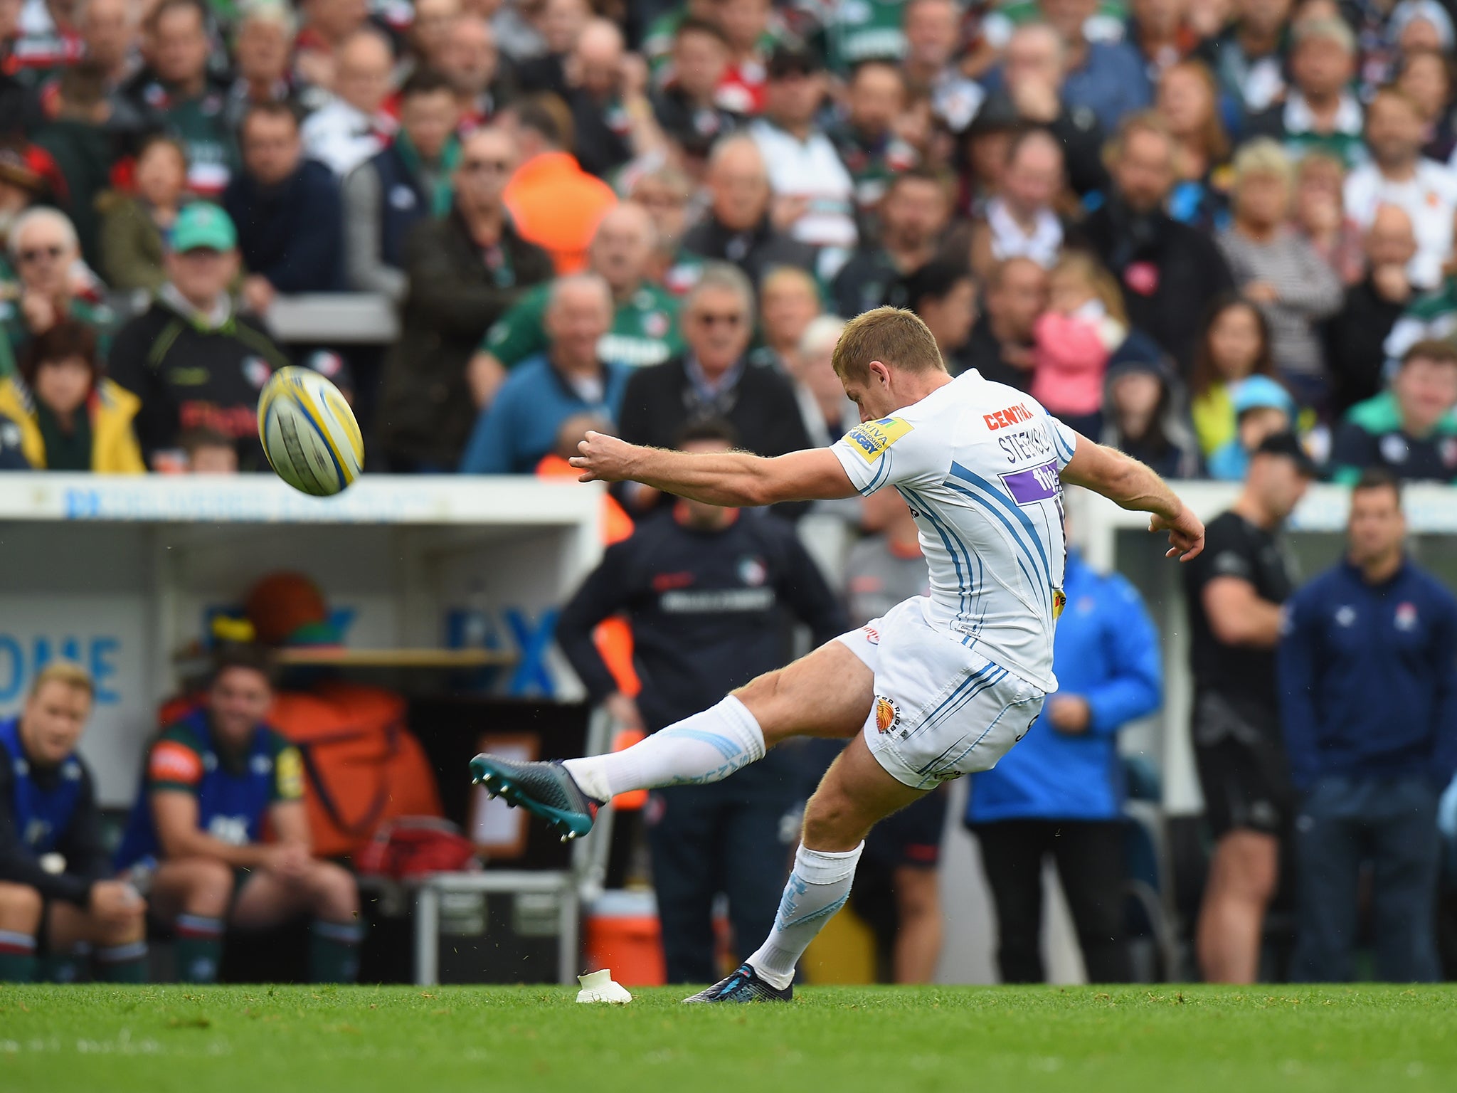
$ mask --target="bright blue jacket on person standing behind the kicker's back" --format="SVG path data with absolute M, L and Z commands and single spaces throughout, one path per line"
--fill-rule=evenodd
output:
M 1103 576 L 1068 552 L 1068 603 L 1052 643 L 1058 695 L 1081 695 L 1091 720 L 1075 736 L 1043 716 L 991 771 L 972 775 L 969 823 L 1004 819 L 1116 818 L 1123 807 L 1118 730 L 1158 708 L 1158 632 L 1122 576 Z M 1058 695 L 1048 698 L 1052 702 Z

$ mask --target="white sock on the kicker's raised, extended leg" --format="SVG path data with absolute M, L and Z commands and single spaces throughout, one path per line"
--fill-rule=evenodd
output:
M 763 730 L 733 695 L 675 721 L 631 748 L 564 764 L 589 797 L 610 800 L 628 790 L 721 781 L 763 758 Z

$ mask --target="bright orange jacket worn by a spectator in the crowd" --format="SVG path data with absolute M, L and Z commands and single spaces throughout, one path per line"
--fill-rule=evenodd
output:
M 549 252 L 558 274 L 587 268 L 587 246 L 602 214 L 618 203 L 612 187 L 567 152 L 526 160 L 501 195 L 523 239 Z

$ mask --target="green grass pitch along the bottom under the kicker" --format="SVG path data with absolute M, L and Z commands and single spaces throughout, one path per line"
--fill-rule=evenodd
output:
M 6 987 L 6 1093 L 1457 1089 L 1457 987 Z

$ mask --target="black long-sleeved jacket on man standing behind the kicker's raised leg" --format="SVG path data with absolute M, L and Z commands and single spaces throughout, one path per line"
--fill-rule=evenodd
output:
M 650 732 L 782 666 L 785 614 L 807 624 L 816 644 L 849 630 L 794 529 L 752 510 L 723 530 L 656 516 L 608 548 L 557 624 L 557 643 L 594 701 L 616 682 L 593 630 L 622 612 L 632 625 L 638 708 Z

